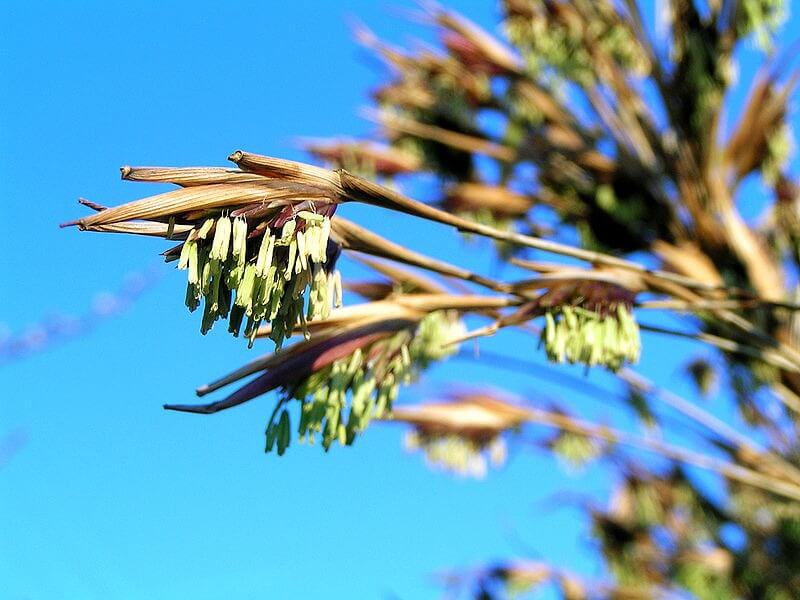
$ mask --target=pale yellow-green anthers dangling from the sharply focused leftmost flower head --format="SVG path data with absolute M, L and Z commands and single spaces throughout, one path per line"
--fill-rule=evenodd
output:
M 341 297 L 338 274 L 329 276 L 324 268 L 329 234 L 330 219 L 311 211 L 298 212 L 280 232 L 265 227 L 260 243 L 251 239 L 242 217 L 207 219 L 192 229 L 178 268 L 188 271 L 189 310 L 205 300 L 201 332 L 228 318 L 228 330 L 238 336 L 247 317 L 244 335 L 251 345 L 268 321 L 270 337 L 280 347 L 298 320 L 325 318 Z

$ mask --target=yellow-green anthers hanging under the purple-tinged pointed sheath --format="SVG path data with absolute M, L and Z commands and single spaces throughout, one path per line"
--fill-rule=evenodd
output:
M 442 343 L 461 333 L 459 319 L 436 311 L 423 318 L 416 331 L 399 331 L 359 348 L 285 389 L 267 426 L 266 451 L 277 448 L 278 454 L 283 454 L 288 447 L 290 417 L 285 405 L 292 399 L 300 402 L 297 434 L 301 442 L 313 444 L 320 434 L 325 450 L 334 441 L 351 445 L 371 419 L 391 412 L 400 385 L 411 383 L 432 361 L 457 351 L 455 345 Z

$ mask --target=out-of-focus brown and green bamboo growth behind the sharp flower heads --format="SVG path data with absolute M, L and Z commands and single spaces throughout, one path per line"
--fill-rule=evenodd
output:
M 400 48 L 358 31 L 386 66 L 367 111 L 380 125 L 377 139 L 316 141 L 308 150 L 332 166 L 401 185 L 430 173 L 438 206 L 482 224 L 634 256 L 742 297 L 791 300 L 800 268 L 800 185 L 788 117 L 797 71 L 794 46 L 776 45 L 774 35 L 789 4 L 665 0 L 654 14 L 649 3 L 634 0 L 505 0 L 497 32 L 426 4 L 416 16 L 437 31 L 435 47 Z M 762 52 L 763 63 L 744 104 L 730 106 L 731 90 L 742 85 L 742 45 Z M 760 198 L 745 185 L 754 178 Z M 497 245 L 499 260 L 522 252 Z M 690 305 L 700 300 L 666 285 L 659 291 Z M 710 336 L 754 343 L 766 334 L 791 352 L 798 348 L 791 310 L 741 305 L 733 314 L 753 325 L 749 335 L 732 333 L 726 319 L 733 315 L 695 310 L 681 319 Z M 702 422 L 711 454 L 780 472 L 796 485 L 794 369 L 767 364 L 759 353 L 675 358 L 701 394 L 729 388 L 750 425 L 746 434 L 733 434 L 724 423 L 695 419 L 696 405 L 683 406 L 684 417 Z M 651 410 L 665 397 L 675 400 L 670 392 L 629 371 L 618 376 L 645 430 L 676 427 Z M 457 471 L 480 473 L 486 463 L 469 457 L 513 437 L 524 417 L 476 431 L 456 418 L 447 427 L 445 407 L 456 412 L 478 403 L 502 412 L 490 396 L 462 395 L 396 416 L 415 425 L 408 443 L 432 464 L 449 461 Z M 566 407 L 554 410 L 568 414 Z M 450 574 L 454 593 L 502 598 L 551 586 L 568 599 L 800 597 L 796 499 L 730 479 L 727 495 L 712 499 L 672 461 L 651 468 L 613 439 L 580 427 L 560 430 L 541 446 L 573 467 L 602 459 L 619 470 L 609 504 L 586 506 L 608 579 L 581 581 L 558 565 L 510 561 Z

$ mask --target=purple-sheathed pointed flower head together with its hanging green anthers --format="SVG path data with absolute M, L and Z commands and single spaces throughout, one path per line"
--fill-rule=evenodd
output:
M 457 312 L 401 312 L 416 316 L 392 319 L 376 312 L 371 322 L 358 319 L 348 326 L 339 319 L 340 324 L 331 331 L 323 330 L 319 336 L 254 361 L 198 390 L 205 395 L 261 373 L 226 398 L 165 408 L 211 414 L 280 388 L 281 399 L 267 428 L 268 450 L 276 440 L 283 440 L 278 444 L 280 454 L 289 445 L 290 417 L 284 406 L 293 399 L 300 403 L 297 431 L 301 437 L 313 439 L 322 434 L 326 449 L 335 440 L 351 444 L 373 417 L 391 411 L 401 384 L 409 383 L 431 361 L 455 351 L 444 342 L 461 330 Z

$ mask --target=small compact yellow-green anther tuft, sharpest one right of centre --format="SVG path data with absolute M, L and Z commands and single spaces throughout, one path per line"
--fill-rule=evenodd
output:
M 639 326 L 624 304 L 607 314 L 564 305 L 545 312 L 541 335 L 547 358 L 557 363 L 602 365 L 618 371 L 639 360 Z

